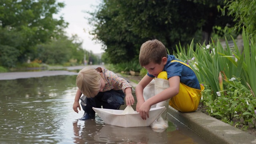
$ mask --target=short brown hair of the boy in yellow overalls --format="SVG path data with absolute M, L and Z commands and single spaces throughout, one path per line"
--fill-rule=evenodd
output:
M 140 66 L 146 66 L 150 62 L 160 64 L 163 57 L 167 57 L 167 50 L 159 40 L 148 40 L 140 47 Z

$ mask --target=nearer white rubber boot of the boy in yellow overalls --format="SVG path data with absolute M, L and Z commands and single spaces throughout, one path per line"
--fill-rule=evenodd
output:
M 163 90 L 165 90 L 166 88 L 169 88 L 169 87 L 170 87 L 170 85 L 169 85 L 168 80 L 164 80 L 162 78 L 155 78 L 155 88 L 154 88 L 155 95 L 159 94 L 160 92 L 162 92 Z M 168 111 L 168 107 L 169 107 L 169 101 L 170 101 L 170 99 L 156 104 L 156 108 L 164 106 L 166 108 L 166 110 L 164 110 L 164 112 L 161 114 L 161 116 L 159 116 L 151 124 L 151 128 L 154 128 L 154 129 L 168 128 L 167 111 Z

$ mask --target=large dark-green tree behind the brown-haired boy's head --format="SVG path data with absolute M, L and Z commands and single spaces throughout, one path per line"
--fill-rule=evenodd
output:
M 90 33 L 105 45 L 111 63 L 137 59 L 140 46 L 158 39 L 172 53 L 176 44 L 186 45 L 210 40 L 213 26 L 224 27 L 232 19 L 218 22 L 221 0 L 103 0 L 98 10 L 91 12 Z M 202 34 L 198 36 L 198 34 Z M 203 38 L 203 40 L 202 40 Z

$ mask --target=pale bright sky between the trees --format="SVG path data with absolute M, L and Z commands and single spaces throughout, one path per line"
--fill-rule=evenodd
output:
M 95 41 L 92 40 L 92 36 L 89 34 L 92 27 L 85 18 L 90 17 L 90 15 L 84 12 L 94 12 L 100 1 L 56 0 L 56 2 L 64 2 L 66 4 L 54 18 L 63 16 L 64 20 L 69 23 L 68 28 L 65 29 L 67 35 L 71 37 L 72 34 L 77 34 L 80 40 L 83 40 L 82 47 L 87 51 L 92 51 L 94 54 L 104 52 L 104 50 L 101 50 L 101 44 L 95 44 Z

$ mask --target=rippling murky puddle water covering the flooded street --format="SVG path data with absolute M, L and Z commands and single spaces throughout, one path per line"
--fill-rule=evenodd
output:
M 172 122 L 157 132 L 150 127 L 111 126 L 98 115 L 95 120 L 77 120 L 83 111 L 77 114 L 72 109 L 76 90 L 76 76 L 0 80 L 1 144 L 205 143 Z

